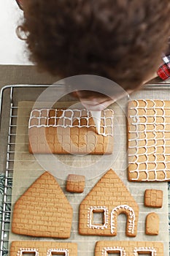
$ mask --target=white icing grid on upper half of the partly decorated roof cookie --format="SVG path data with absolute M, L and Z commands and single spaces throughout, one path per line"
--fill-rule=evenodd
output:
M 49 116 L 50 110 L 55 111 L 54 116 Z M 103 110 L 104 116 L 101 116 L 101 128 L 104 132 L 98 132 L 99 135 L 111 135 L 113 136 L 113 115 L 112 117 L 107 117 L 107 111 L 113 110 Z M 44 114 L 45 113 L 45 114 Z M 95 125 L 89 124 L 91 118 L 91 113 L 89 110 L 71 110 L 66 109 L 62 110 L 62 115 L 58 117 L 58 109 L 36 109 L 31 111 L 31 115 L 28 122 L 28 128 L 32 127 L 95 127 Z M 85 116 L 83 116 L 85 113 Z M 86 116 L 87 115 L 87 116 Z M 33 119 L 36 119 L 37 124 L 31 124 Z M 81 125 L 81 120 L 85 119 L 86 124 Z M 54 124 L 50 124 L 50 121 L 54 121 Z M 78 124 L 74 125 L 74 121 L 77 121 Z M 109 121 L 109 124 L 108 124 Z

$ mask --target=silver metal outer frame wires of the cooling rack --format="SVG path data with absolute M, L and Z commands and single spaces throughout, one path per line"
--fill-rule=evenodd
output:
M 152 85 L 151 85 L 152 86 Z M 158 88 L 160 85 L 153 85 L 152 88 Z M 169 85 L 163 84 L 164 88 L 169 89 Z M 6 86 L 0 94 L 0 122 L 1 118 L 1 108 L 2 99 L 5 89 L 9 89 L 9 127 L 7 135 L 7 155 L 6 155 L 6 167 L 4 170 L 4 197 L 3 197 L 3 208 L 2 208 L 2 220 L 1 220 L 1 244 L 0 244 L 0 256 L 9 255 L 9 231 L 10 231 L 10 217 L 11 217 L 11 197 L 12 197 L 12 173 L 14 168 L 14 155 L 15 155 L 15 138 L 17 129 L 17 118 L 18 118 L 18 106 L 13 102 L 13 94 L 15 88 L 23 87 L 20 86 Z M 37 87 L 35 86 L 25 86 L 28 88 Z M 41 85 L 42 88 L 47 87 L 46 85 Z M 150 87 L 148 87 L 150 88 Z M 147 86 L 145 87 L 147 89 Z M 169 214 L 170 219 L 170 214 Z

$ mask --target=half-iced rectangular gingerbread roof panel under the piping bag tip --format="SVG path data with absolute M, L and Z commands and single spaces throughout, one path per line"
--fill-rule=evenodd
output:
M 102 111 L 100 134 L 88 110 L 32 110 L 28 132 L 33 154 L 112 154 L 113 110 Z

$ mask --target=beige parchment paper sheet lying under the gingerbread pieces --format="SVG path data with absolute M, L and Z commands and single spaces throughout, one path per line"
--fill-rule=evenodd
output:
M 131 99 L 158 99 L 158 94 L 153 95 L 152 91 L 141 91 L 133 95 Z M 161 97 L 161 95 L 160 95 Z M 167 97 L 166 94 L 164 97 Z M 164 99 L 164 98 L 161 98 Z M 15 146 L 15 166 L 13 174 L 12 189 L 12 208 L 15 201 L 26 191 L 26 189 L 38 178 L 45 170 L 50 171 L 61 185 L 63 192 L 71 203 L 74 214 L 72 222 L 72 233 L 69 239 L 63 241 L 74 241 L 78 244 L 78 255 L 92 256 L 96 241 L 100 240 L 130 240 L 130 241 L 162 241 L 164 244 L 165 255 L 169 255 L 169 221 L 168 221 L 168 191 L 167 183 L 132 183 L 127 180 L 127 148 L 126 148 L 126 105 L 127 99 L 123 99 L 118 104 L 110 106 L 115 111 L 115 146 L 113 154 L 109 156 L 74 156 L 61 155 L 55 156 L 53 160 L 52 170 L 48 162 L 48 155 L 44 155 L 40 160 L 34 155 L 28 153 L 28 118 L 34 102 L 19 102 L 18 105 L 18 128 Z M 63 105 L 63 106 L 62 106 Z M 66 108 L 66 102 L 61 102 L 59 107 Z M 109 107 L 109 108 L 110 108 Z M 44 159 L 44 163 L 42 162 Z M 39 165 L 39 162 L 41 165 Z M 55 170 L 54 170 L 54 165 Z M 64 165 L 63 165 L 64 164 Z M 49 167 L 46 169 L 46 167 Z M 77 168 L 78 167 L 78 168 Z M 120 214 L 118 217 L 117 236 L 80 236 L 78 233 L 78 211 L 79 205 L 85 195 L 97 183 L 99 178 L 112 167 L 118 176 L 123 180 L 124 184 L 134 196 L 139 204 L 139 223 L 136 238 L 128 238 L 125 236 L 125 216 Z M 62 169 L 63 168 L 63 169 Z M 71 194 L 65 190 L 66 176 L 70 173 L 83 174 L 86 178 L 85 190 L 82 194 Z M 93 173 L 91 175 L 91 173 Z M 163 208 L 147 208 L 144 207 L 144 191 L 145 189 L 162 189 L 163 190 Z M 160 217 L 160 233 L 158 236 L 146 236 L 144 234 L 145 218 L 147 214 L 155 211 Z M 27 236 L 18 236 L 10 233 L 9 241 L 14 240 L 32 240 L 34 238 Z M 38 238 L 36 238 L 37 240 Z M 39 238 L 41 240 L 62 241 L 60 239 Z

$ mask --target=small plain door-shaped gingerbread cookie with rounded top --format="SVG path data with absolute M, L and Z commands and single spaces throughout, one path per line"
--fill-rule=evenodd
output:
M 159 216 L 155 212 L 147 214 L 145 233 L 150 236 L 156 236 L 159 233 Z

